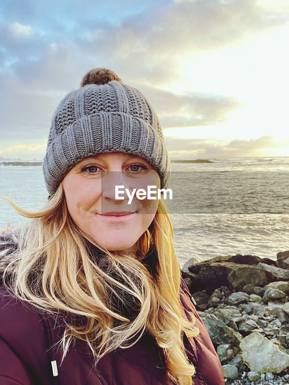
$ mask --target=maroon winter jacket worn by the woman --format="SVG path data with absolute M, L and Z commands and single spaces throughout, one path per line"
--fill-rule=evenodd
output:
M 1 242 L 0 242 L 1 243 Z M 0 245 L 1 246 L 1 245 Z M 1 258 L 2 255 L 2 258 Z M 0 247 L 0 273 L 5 266 Z M 0 274 L 1 276 L 1 274 Z M 208 332 L 200 319 L 187 285 L 181 279 L 180 307 L 191 320 L 195 315 L 200 334 L 187 337 L 184 344 L 196 368 L 195 385 L 224 385 L 222 366 Z M 49 315 L 39 314 L 13 298 L 0 281 L 0 384 L 1 385 L 172 385 L 165 369 L 165 357 L 155 338 L 145 332 L 130 348 L 108 353 L 93 367 L 92 353 L 79 339 L 61 361 L 61 350 L 54 346 L 65 326 Z M 58 351 L 57 351 L 58 347 Z M 51 362 L 56 361 L 54 376 Z M 56 374 L 56 373 L 55 373 Z

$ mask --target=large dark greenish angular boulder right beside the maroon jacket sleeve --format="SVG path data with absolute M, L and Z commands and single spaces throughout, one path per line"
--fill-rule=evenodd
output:
M 223 343 L 229 343 L 239 347 L 242 335 L 238 331 L 227 326 L 213 314 L 205 313 L 204 315 L 203 313 L 201 318 L 215 348 Z

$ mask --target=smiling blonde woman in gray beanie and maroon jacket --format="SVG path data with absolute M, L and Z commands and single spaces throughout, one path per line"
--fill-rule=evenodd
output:
M 32 220 L 0 246 L 1 383 L 223 384 L 164 196 L 129 203 L 134 189 L 169 182 L 148 100 L 111 70 L 91 70 L 54 114 L 43 172 L 42 212 L 6 199 Z

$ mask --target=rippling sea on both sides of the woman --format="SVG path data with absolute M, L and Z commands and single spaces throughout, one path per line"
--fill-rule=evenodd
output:
M 208 160 L 171 162 L 167 203 L 180 266 L 236 254 L 276 260 L 289 250 L 289 157 Z M 0 194 L 39 210 L 48 196 L 42 167 L 0 163 Z M 0 228 L 22 220 L 0 200 Z

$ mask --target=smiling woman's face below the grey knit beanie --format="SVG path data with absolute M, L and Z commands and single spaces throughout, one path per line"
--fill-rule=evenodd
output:
M 119 188 L 124 199 L 116 199 L 115 186 L 124 186 Z M 133 189 L 147 191 L 148 186 L 160 188 L 158 173 L 145 159 L 123 152 L 82 159 L 63 179 L 67 208 L 77 227 L 109 251 L 133 253 L 153 221 L 158 197 L 141 200 L 134 194 L 129 204 L 129 195 Z

